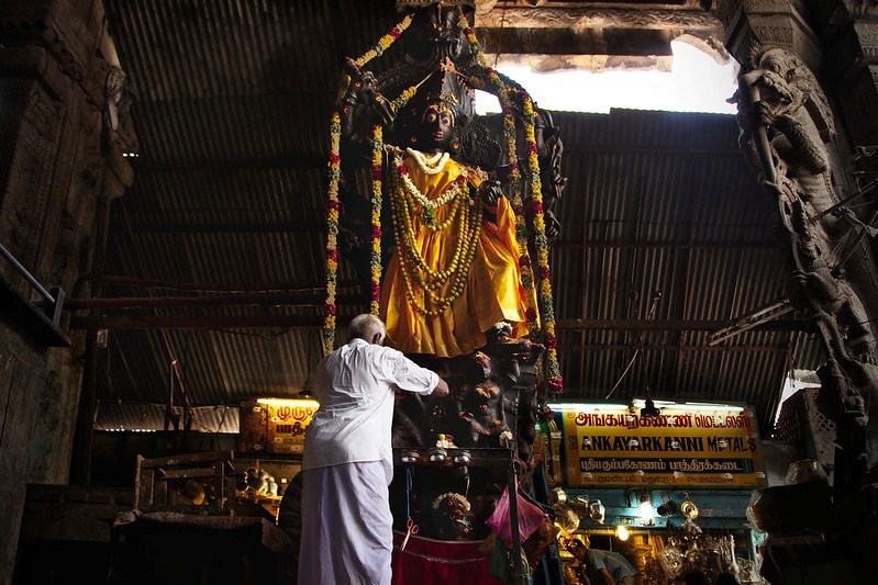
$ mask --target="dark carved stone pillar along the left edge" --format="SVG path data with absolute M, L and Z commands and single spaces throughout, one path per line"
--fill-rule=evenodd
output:
M 0 3 L 0 244 L 45 288 L 81 293 L 99 217 L 131 182 L 131 136 L 105 122 L 114 58 L 100 0 Z M 0 274 L 41 302 L 10 262 Z M 85 349 L 84 335 L 49 348 L 0 311 L 0 566 L 15 564 L 26 483 L 68 481 Z

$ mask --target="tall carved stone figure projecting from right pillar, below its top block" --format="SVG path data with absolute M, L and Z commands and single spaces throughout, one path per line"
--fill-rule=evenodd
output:
M 852 230 L 864 228 L 837 195 L 829 146 L 835 128 L 829 103 L 816 80 L 796 55 L 781 48 L 756 50 L 753 69 L 738 79 L 740 143 L 763 184 L 778 201 L 790 234 L 796 270 L 793 306 L 808 311 L 826 350 L 821 368 L 821 396 L 832 403 L 843 463 L 856 468 L 868 450 L 860 429 L 878 424 L 871 417 L 878 397 L 875 331 L 865 301 L 874 279 L 874 261 L 851 262 Z M 863 248 L 857 256 L 868 257 Z M 831 400 L 827 400 L 831 398 Z M 865 465 L 858 469 L 858 474 Z M 846 475 L 856 482 L 855 474 Z

